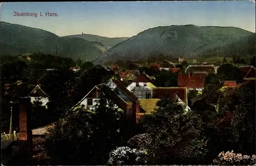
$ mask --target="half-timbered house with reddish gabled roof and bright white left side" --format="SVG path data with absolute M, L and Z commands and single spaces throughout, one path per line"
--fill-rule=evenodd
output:
M 153 81 L 145 73 L 140 74 L 126 88 L 139 99 L 151 98 L 152 88 L 155 88 Z

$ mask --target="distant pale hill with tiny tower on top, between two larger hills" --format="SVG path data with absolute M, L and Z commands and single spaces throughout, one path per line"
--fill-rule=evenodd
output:
M 129 38 L 126 38 L 126 37 L 123 37 L 123 38 L 108 38 L 108 37 L 90 35 L 90 34 L 70 35 L 70 36 L 65 36 L 65 37 L 68 37 L 68 38 L 82 38 L 82 39 L 86 39 L 90 42 L 100 42 L 100 43 L 104 44 L 107 49 L 110 49 L 114 45 L 129 39 Z

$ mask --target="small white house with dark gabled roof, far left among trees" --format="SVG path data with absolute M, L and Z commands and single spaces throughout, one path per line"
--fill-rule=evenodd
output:
M 31 103 L 35 101 L 41 102 L 42 106 L 47 107 L 47 103 L 49 102 L 49 96 L 40 88 L 39 85 L 36 85 L 35 88 L 28 95 L 31 99 Z

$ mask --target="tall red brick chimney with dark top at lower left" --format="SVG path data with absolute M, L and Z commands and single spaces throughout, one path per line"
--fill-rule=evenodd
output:
M 31 103 L 30 97 L 19 98 L 19 141 L 26 141 L 28 147 L 32 145 Z

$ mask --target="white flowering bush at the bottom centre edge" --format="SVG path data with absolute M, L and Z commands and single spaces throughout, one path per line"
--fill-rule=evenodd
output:
M 118 147 L 110 152 L 108 165 L 141 165 L 144 164 L 145 152 L 129 147 Z

